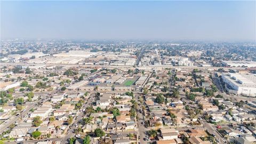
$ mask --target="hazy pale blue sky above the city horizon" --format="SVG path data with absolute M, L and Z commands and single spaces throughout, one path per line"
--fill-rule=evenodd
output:
M 1 38 L 248 39 L 255 1 L 1 1 Z

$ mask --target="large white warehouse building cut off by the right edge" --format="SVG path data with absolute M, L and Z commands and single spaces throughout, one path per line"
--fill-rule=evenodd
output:
M 256 75 L 223 73 L 222 79 L 229 93 L 256 97 Z

